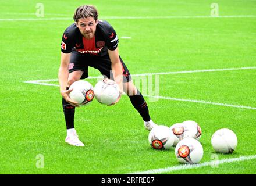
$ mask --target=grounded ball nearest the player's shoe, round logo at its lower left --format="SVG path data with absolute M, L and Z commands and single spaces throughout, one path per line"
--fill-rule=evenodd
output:
M 156 126 L 148 134 L 148 142 L 154 149 L 170 149 L 174 142 L 172 131 L 167 126 Z

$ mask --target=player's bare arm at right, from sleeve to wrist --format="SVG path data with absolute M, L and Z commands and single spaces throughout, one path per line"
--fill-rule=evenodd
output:
M 122 63 L 120 62 L 118 47 L 111 51 L 108 49 L 109 58 L 111 60 L 111 69 L 113 77 L 120 88 L 120 94 L 123 92 L 123 70 Z

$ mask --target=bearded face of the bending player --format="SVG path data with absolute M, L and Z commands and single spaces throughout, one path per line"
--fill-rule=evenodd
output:
M 98 24 L 98 20 L 94 20 L 93 17 L 80 18 L 76 26 L 79 28 L 81 34 L 87 38 L 91 39 L 94 37 L 96 26 Z

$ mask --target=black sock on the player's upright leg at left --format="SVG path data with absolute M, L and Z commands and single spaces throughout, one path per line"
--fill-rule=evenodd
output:
M 67 90 L 69 88 L 67 87 Z M 64 98 L 62 98 L 62 108 L 65 116 L 67 129 L 74 128 L 74 109 L 75 107 L 70 105 Z

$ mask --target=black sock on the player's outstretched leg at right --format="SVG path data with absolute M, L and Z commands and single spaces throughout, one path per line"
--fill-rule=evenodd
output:
M 150 113 L 148 111 L 148 105 L 141 95 L 140 91 L 137 89 L 137 94 L 133 96 L 129 96 L 131 104 L 133 104 L 134 108 L 138 110 L 140 116 L 143 118 L 144 121 L 150 121 Z

